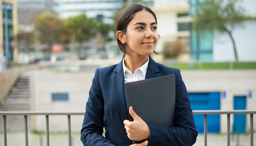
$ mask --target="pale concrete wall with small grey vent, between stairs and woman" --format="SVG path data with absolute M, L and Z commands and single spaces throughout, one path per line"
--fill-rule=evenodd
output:
M 89 96 L 94 72 L 35 72 L 30 76 L 31 111 L 82 112 Z M 52 101 L 52 93 L 68 93 L 68 101 Z M 71 116 L 72 131 L 80 131 L 83 116 Z M 32 128 L 45 131 L 45 116 L 32 118 Z M 67 116 L 49 116 L 50 131 L 67 131 Z

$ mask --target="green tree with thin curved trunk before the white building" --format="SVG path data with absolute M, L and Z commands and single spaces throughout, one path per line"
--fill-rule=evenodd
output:
M 236 44 L 232 30 L 246 19 L 244 9 L 238 6 L 239 0 L 207 0 L 196 9 L 193 28 L 195 30 L 217 30 L 227 33 L 233 43 L 236 61 Z

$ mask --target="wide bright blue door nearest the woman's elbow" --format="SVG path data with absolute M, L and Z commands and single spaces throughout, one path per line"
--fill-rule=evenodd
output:
M 220 92 L 188 93 L 192 110 L 220 110 Z M 204 115 L 194 115 L 197 132 L 204 132 Z M 207 132 L 219 132 L 220 115 L 207 115 Z

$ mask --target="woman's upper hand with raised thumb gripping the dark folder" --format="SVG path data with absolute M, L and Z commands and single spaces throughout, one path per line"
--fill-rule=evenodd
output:
M 129 113 L 133 118 L 133 121 L 124 120 L 124 128 L 126 129 L 127 136 L 133 141 L 142 141 L 150 137 L 150 130 L 147 123 L 144 122 L 132 109 L 129 108 Z M 142 145 L 143 146 L 143 145 Z

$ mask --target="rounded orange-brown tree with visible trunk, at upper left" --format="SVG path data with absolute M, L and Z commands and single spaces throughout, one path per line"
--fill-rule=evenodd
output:
M 38 32 L 40 42 L 46 43 L 46 58 L 50 58 L 53 43 L 60 42 L 62 21 L 55 14 L 42 13 L 35 20 L 35 31 Z

